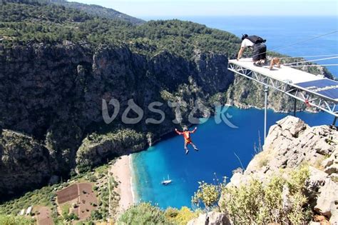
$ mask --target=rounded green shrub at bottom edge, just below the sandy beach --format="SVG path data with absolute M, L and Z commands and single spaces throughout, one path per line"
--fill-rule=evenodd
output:
M 150 203 L 131 206 L 118 219 L 118 224 L 170 224 L 165 214 Z

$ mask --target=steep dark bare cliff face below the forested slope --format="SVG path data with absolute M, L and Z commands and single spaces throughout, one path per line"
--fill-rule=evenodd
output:
M 41 168 L 49 172 L 34 171 L 36 176 L 41 177 L 67 174 L 76 166 L 88 165 L 88 161 L 93 161 L 90 163 L 93 166 L 113 155 L 94 154 L 99 159 L 93 160 L 93 152 L 106 149 L 107 142 L 102 142 L 102 149 L 97 143 L 93 148 L 88 144 L 90 138 L 83 141 L 88 134 L 105 136 L 117 134 L 121 129 L 131 129 L 130 134 L 143 137 L 136 149 L 144 148 L 147 140 L 158 139 L 175 126 L 171 122 L 175 119 L 174 109 L 168 106 L 167 101 L 185 101 L 181 107 L 183 124 L 188 124 L 194 100 L 209 106 L 210 97 L 226 91 L 234 79 L 227 71 L 226 56 L 201 51 L 195 51 L 193 59 L 188 60 L 168 51 L 148 57 L 130 51 L 128 46 L 94 48 L 89 44 L 64 41 L 56 45 L 16 45 L 11 49 L 1 46 L 0 55 L 1 124 L 4 129 L 31 136 L 41 143 L 41 148 L 48 149 L 45 154 L 51 164 Z M 120 102 L 121 109 L 111 124 L 103 121 L 103 99 L 107 103 L 111 99 Z M 128 125 L 121 121 L 128 99 L 133 99 L 144 111 L 138 124 Z M 153 101 L 163 103 L 158 107 L 165 112 L 165 119 L 160 125 L 145 123 L 147 118 L 160 119 L 159 114 L 148 109 Z M 108 111 L 113 114 L 113 106 L 108 105 Z M 198 113 L 196 116 L 201 115 Z M 130 112 L 128 116 L 135 115 Z M 140 136 L 136 135 L 136 139 L 140 140 Z M 78 151 L 80 146 L 81 151 Z M 26 157 L 26 146 L 18 144 L 17 147 L 22 149 L 19 154 Z M 116 154 L 123 154 L 129 147 L 117 144 Z M 14 159 L 10 153 L 8 157 Z M 15 170 L 11 160 L 0 159 L 8 174 L 1 179 L 5 184 Z M 36 159 L 31 159 L 31 163 L 34 164 Z M 39 164 L 39 161 L 35 162 Z M 20 164 L 17 166 L 24 169 Z M 31 174 L 32 171 L 29 171 L 27 168 L 27 173 L 22 176 Z M 41 179 L 34 182 L 38 181 Z M 13 185 L 17 189 L 25 189 L 31 184 L 30 180 L 23 179 L 22 182 L 26 184 L 17 182 Z M 1 188 L 2 191 L 8 190 L 6 186 Z

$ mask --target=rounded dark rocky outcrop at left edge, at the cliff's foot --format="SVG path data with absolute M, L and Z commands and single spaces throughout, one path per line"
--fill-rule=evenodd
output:
M 51 176 L 48 149 L 31 136 L 5 129 L 0 134 L 0 171 L 0 193 L 46 184 Z

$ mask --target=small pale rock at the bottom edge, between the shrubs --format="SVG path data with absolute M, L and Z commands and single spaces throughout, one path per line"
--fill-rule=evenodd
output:
M 188 225 L 230 225 L 230 220 L 225 214 L 212 211 L 200 214 L 198 218 L 190 220 Z

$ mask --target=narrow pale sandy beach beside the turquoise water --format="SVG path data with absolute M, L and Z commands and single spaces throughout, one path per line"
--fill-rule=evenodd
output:
M 118 181 L 118 194 L 121 199 L 119 202 L 118 212 L 121 213 L 133 205 L 133 190 L 131 184 L 131 171 L 130 171 L 131 156 L 121 156 L 117 159 L 116 163 L 111 167 L 113 176 Z

